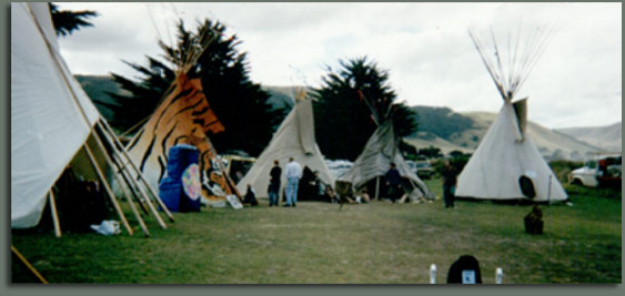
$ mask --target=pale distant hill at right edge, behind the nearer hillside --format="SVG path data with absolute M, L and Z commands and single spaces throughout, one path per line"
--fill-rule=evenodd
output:
M 566 127 L 556 131 L 606 151 L 622 150 L 622 122 L 597 127 Z

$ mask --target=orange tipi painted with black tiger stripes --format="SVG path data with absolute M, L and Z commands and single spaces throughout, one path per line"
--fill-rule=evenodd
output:
M 212 42 L 209 34 L 200 37 L 203 44 L 189 53 L 185 61 L 174 61 L 177 75 L 145 124 L 128 143 L 130 157 L 153 187 L 165 177 L 170 147 L 185 139 L 199 154 L 201 196 L 210 201 L 225 201 L 226 195 L 241 197 L 234 182 L 225 173 L 208 134 L 224 131 L 213 113 L 199 78 L 190 78 L 191 68 L 202 51 Z M 182 59 L 182 58 L 181 58 Z

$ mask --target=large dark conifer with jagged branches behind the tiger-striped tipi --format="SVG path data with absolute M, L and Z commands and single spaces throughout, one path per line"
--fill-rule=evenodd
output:
M 235 35 L 226 38 L 224 31 L 225 27 L 219 21 L 205 19 L 192 33 L 180 21 L 178 43 L 175 47 L 163 45 L 164 57 L 171 59 L 175 54 L 187 54 L 190 47 L 199 45 L 195 37 L 201 32 L 215 38 L 188 73 L 191 78 L 201 78 L 209 104 L 225 127 L 224 132 L 209 136 L 220 152 L 241 150 L 258 155 L 271 140 L 282 110 L 273 110 L 268 103 L 270 95 L 261 90 L 260 84 L 250 81 L 246 54 L 236 49 L 241 41 Z M 125 62 L 140 72 L 140 81 L 112 74 L 113 80 L 130 93 L 110 93 L 123 102 L 123 110 L 117 110 L 118 116 L 123 119 L 120 122 L 122 130 L 140 125 L 149 118 L 175 78 L 174 70 L 165 62 L 147 58 L 148 65 Z

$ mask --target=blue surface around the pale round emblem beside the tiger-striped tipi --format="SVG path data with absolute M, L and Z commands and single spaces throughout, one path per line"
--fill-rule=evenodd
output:
M 200 198 L 188 196 L 182 185 L 184 170 L 196 165 L 199 156 L 200 152 L 192 145 L 170 147 L 167 175 L 159 183 L 159 195 L 170 212 L 200 212 Z

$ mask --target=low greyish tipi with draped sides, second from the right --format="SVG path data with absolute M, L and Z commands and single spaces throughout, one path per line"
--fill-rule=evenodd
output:
M 404 186 L 404 188 L 409 188 L 407 192 L 411 193 L 412 198 L 432 198 L 433 195 L 425 183 L 416 176 L 402 156 L 400 141 L 394 132 L 392 119 L 386 119 L 373 132 L 363 152 L 354 161 L 352 169 L 340 176 L 339 180 L 350 182 L 356 191 L 375 181 L 376 192 L 372 193 L 372 196 L 376 196 L 380 182 L 383 182 L 383 177 L 391 167 L 391 163 L 395 163 L 400 175 L 407 181 L 407 186 Z

